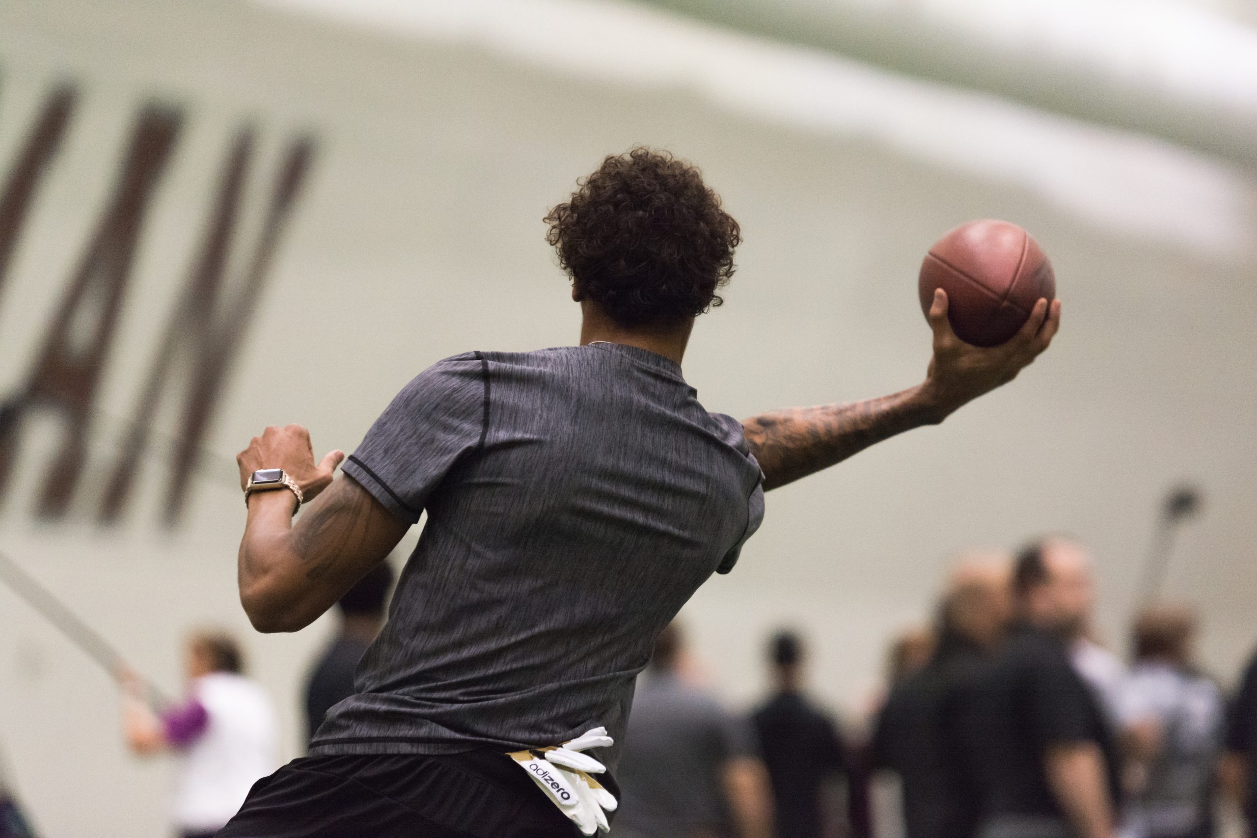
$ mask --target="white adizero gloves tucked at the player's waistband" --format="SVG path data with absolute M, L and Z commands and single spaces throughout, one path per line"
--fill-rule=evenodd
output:
M 606 727 L 595 727 L 558 748 L 514 751 L 508 756 L 528 771 L 533 783 L 546 793 L 559 812 L 579 827 L 582 834 L 592 835 L 600 829 L 611 830 L 606 813 L 615 812 L 618 804 L 615 795 L 590 776 L 602 774 L 607 768 L 581 751 L 590 748 L 610 748 L 613 744 L 611 736 L 607 736 Z

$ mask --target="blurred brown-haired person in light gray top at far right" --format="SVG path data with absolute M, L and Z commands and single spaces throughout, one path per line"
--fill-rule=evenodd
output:
M 1195 614 L 1182 606 L 1150 607 L 1133 633 L 1128 833 L 1208 838 L 1226 710 L 1218 686 L 1193 665 Z

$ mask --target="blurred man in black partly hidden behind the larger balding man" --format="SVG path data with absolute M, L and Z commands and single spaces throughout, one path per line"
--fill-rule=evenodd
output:
M 901 783 L 906 838 L 969 838 L 980 795 L 965 744 L 965 717 L 983 665 L 1012 617 L 1007 557 L 969 557 L 939 604 L 934 653 L 890 694 L 872 758 Z

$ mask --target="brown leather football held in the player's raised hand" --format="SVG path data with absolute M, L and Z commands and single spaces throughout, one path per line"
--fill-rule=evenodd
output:
M 1017 334 L 1040 298 L 1052 302 L 1056 275 L 1028 232 L 987 219 L 960 225 L 930 248 L 918 283 L 926 315 L 936 288 L 947 291 L 957 337 L 994 347 Z

